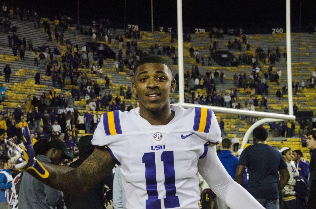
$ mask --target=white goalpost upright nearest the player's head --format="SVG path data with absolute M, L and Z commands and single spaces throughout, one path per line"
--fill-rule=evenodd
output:
M 184 69 L 183 69 L 183 32 L 182 32 L 182 0 L 177 0 L 178 18 L 178 72 L 179 72 L 179 104 L 184 104 Z M 176 38 L 176 37 L 175 37 Z

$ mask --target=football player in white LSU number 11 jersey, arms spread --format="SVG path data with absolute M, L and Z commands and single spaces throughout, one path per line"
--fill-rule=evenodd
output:
M 28 158 L 7 141 L 16 167 L 52 188 L 82 193 L 118 164 L 127 199 L 125 208 L 146 209 L 199 208 L 199 172 L 230 208 L 263 208 L 234 182 L 219 161 L 214 145 L 221 142 L 221 132 L 215 114 L 206 108 L 185 110 L 169 104 L 176 83 L 163 58 L 146 57 L 135 69 L 132 86 L 139 107 L 103 114 L 91 141 L 96 148 L 79 167 L 56 166 L 32 158 L 27 128 L 23 128 L 23 143 Z

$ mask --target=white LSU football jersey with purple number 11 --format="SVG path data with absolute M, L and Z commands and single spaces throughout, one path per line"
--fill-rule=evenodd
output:
M 101 116 L 91 142 L 105 146 L 120 166 L 126 208 L 199 208 L 197 162 L 208 145 L 221 142 L 221 131 L 211 110 L 171 109 L 174 118 L 161 126 L 142 118 L 139 108 Z

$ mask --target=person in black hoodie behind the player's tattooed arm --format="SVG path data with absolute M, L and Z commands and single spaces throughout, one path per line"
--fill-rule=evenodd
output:
M 71 163 L 69 167 L 79 167 L 85 159 L 87 159 L 94 150 L 94 145 L 91 144 L 92 135 L 86 135 L 80 138 L 78 142 L 79 159 Z M 84 209 L 84 208 L 103 208 L 104 206 L 104 193 L 106 184 L 111 190 L 105 194 L 106 200 L 112 200 L 112 188 L 113 188 L 114 174 L 110 173 L 101 182 L 94 185 L 87 192 L 83 194 L 69 194 L 64 193 L 64 202 L 68 209 Z M 107 205 L 107 203 L 106 203 Z

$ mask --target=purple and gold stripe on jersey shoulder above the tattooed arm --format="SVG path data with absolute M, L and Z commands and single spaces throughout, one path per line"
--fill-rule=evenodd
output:
M 106 135 L 122 134 L 121 124 L 119 121 L 119 110 L 104 113 L 103 125 Z

